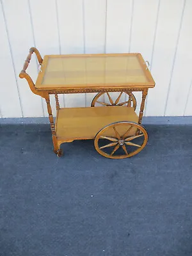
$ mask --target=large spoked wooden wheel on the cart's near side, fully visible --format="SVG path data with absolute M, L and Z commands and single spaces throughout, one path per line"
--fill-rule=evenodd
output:
M 95 136 L 95 149 L 102 156 L 122 159 L 138 154 L 147 144 L 145 128 L 133 122 L 116 122 L 102 128 Z

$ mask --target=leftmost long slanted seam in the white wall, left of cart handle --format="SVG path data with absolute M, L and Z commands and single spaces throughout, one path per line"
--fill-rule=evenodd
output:
M 23 117 L 23 110 L 22 110 L 22 103 L 21 103 L 21 100 L 20 100 L 19 85 L 18 85 L 18 82 L 17 82 L 17 74 L 16 74 L 16 70 L 15 70 L 15 63 L 14 63 L 14 60 L 13 60 L 12 45 L 11 45 L 11 42 L 10 42 L 10 35 L 8 33 L 8 26 L 7 26 L 7 22 L 6 22 L 6 16 L 5 16 L 5 13 L 4 13 L 4 6 L 3 6 L 2 0 L 1 0 L 1 7 L 2 7 L 2 12 L 3 12 L 3 19 L 4 19 L 5 29 L 6 29 L 6 35 L 7 35 L 7 39 L 8 39 L 8 45 L 10 47 L 10 55 L 11 55 L 11 58 L 12 58 L 13 72 L 15 74 L 15 83 L 17 85 L 17 92 L 18 92 L 18 96 L 19 96 L 20 111 L 21 111 L 21 115 Z

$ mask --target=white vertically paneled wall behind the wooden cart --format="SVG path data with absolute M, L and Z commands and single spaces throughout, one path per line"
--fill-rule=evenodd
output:
M 141 52 L 156 81 L 145 115 L 192 115 L 191 0 L 0 1 L 1 117 L 47 116 L 44 99 L 18 77 L 32 46 L 42 57 Z M 37 70 L 33 56 L 28 72 L 34 80 Z M 94 95 L 60 95 L 60 104 L 90 106 Z

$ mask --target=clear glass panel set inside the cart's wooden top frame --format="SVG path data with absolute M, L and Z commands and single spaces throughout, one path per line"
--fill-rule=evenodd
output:
M 49 57 L 42 84 L 147 83 L 137 56 Z

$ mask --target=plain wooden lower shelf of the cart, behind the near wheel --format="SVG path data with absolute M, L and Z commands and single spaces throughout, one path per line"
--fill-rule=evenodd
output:
M 133 108 L 123 106 L 95 108 L 61 108 L 56 118 L 58 140 L 88 140 L 113 122 L 130 121 L 138 123 Z

